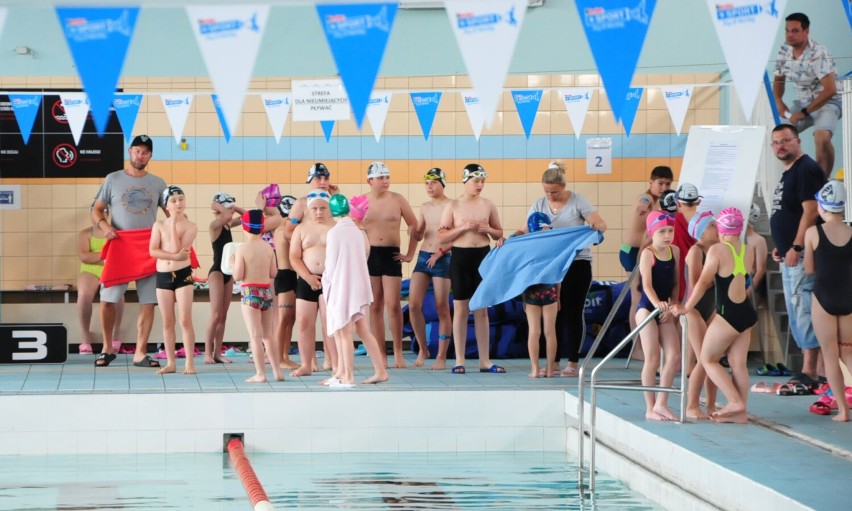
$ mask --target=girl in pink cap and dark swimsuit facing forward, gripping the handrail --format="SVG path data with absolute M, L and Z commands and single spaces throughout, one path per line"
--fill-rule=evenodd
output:
M 660 371 L 660 386 L 671 387 L 680 361 L 680 342 L 677 327 L 669 313 L 670 300 L 678 295 L 679 249 L 672 245 L 675 217 L 665 211 L 651 211 L 645 219 L 651 245 L 639 254 L 641 297 L 636 311 L 636 324 L 645 320 L 654 310 L 660 309 L 656 321 L 651 321 L 639 333 L 645 365 L 642 367 L 642 385 L 653 387 L 660 366 L 660 349 L 665 354 Z M 668 407 L 668 393 L 645 392 L 645 418 L 670 421 L 674 414 Z

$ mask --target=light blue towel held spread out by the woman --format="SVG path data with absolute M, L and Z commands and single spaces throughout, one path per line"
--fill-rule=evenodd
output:
M 558 284 L 578 252 L 603 241 L 588 226 L 540 231 L 510 238 L 479 265 L 482 283 L 470 299 L 470 310 L 515 298 L 533 284 Z

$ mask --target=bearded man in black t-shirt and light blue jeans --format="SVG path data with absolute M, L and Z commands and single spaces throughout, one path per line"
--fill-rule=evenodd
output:
M 814 195 L 825 183 L 817 162 L 802 152 L 799 132 L 791 124 L 779 124 L 772 130 L 772 150 L 784 164 L 781 181 L 772 199 L 769 228 L 775 248 L 772 258 L 781 266 L 784 301 L 790 333 L 802 349 L 802 372 L 817 378 L 819 343 L 811 323 L 813 275 L 802 265 L 805 231 L 817 219 Z

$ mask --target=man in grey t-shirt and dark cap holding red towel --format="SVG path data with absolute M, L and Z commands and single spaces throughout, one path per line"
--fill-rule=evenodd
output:
M 106 177 L 92 206 L 92 223 L 103 230 L 107 240 L 121 240 L 112 248 L 112 257 L 117 256 L 116 262 L 108 258 L 104 262 L 104 272 L 110 273 L 110 283 L 123 281 L 108 285 L 102 276 L 100 316 L 104 345 L 95 360 L 97 367 L 106 367 L 115 360 L 112 346 L 115 306 L 124 297 L 127 285 L 132 280 L 136 281 L 139 296 L 133 365 L 160 367 L 159 362 L 147 354 L 148 337 L 154 324 L 154 305 L 157 303 L 155 260 L 148 253 L 148 243 L 151 227 L 157 221 L 157 207 L 163 206 L 160 201 L 166 189 L 166 182 L 162 178 L 148 173 L 153 150 L 154 143 L 147 135 L 134 138 L 128 150 L 129 167 Z M 110 211 L 109 222 L 105 219 L 106 208 Z M 127 230 L 143 231 L 123 236 L 123 231 Z M 147 230 L 147 235 L 144 230 Z M 140 276 L 140 268 L 145 275 Z

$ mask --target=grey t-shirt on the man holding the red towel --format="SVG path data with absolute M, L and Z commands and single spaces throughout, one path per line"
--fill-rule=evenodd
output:
M 166 182 L 153 174 L 133 177 L 123 170 L 109 174 L 95 200 L 109 206 L 112 226 L 126 229 L 150 229 L 157 221 Z

